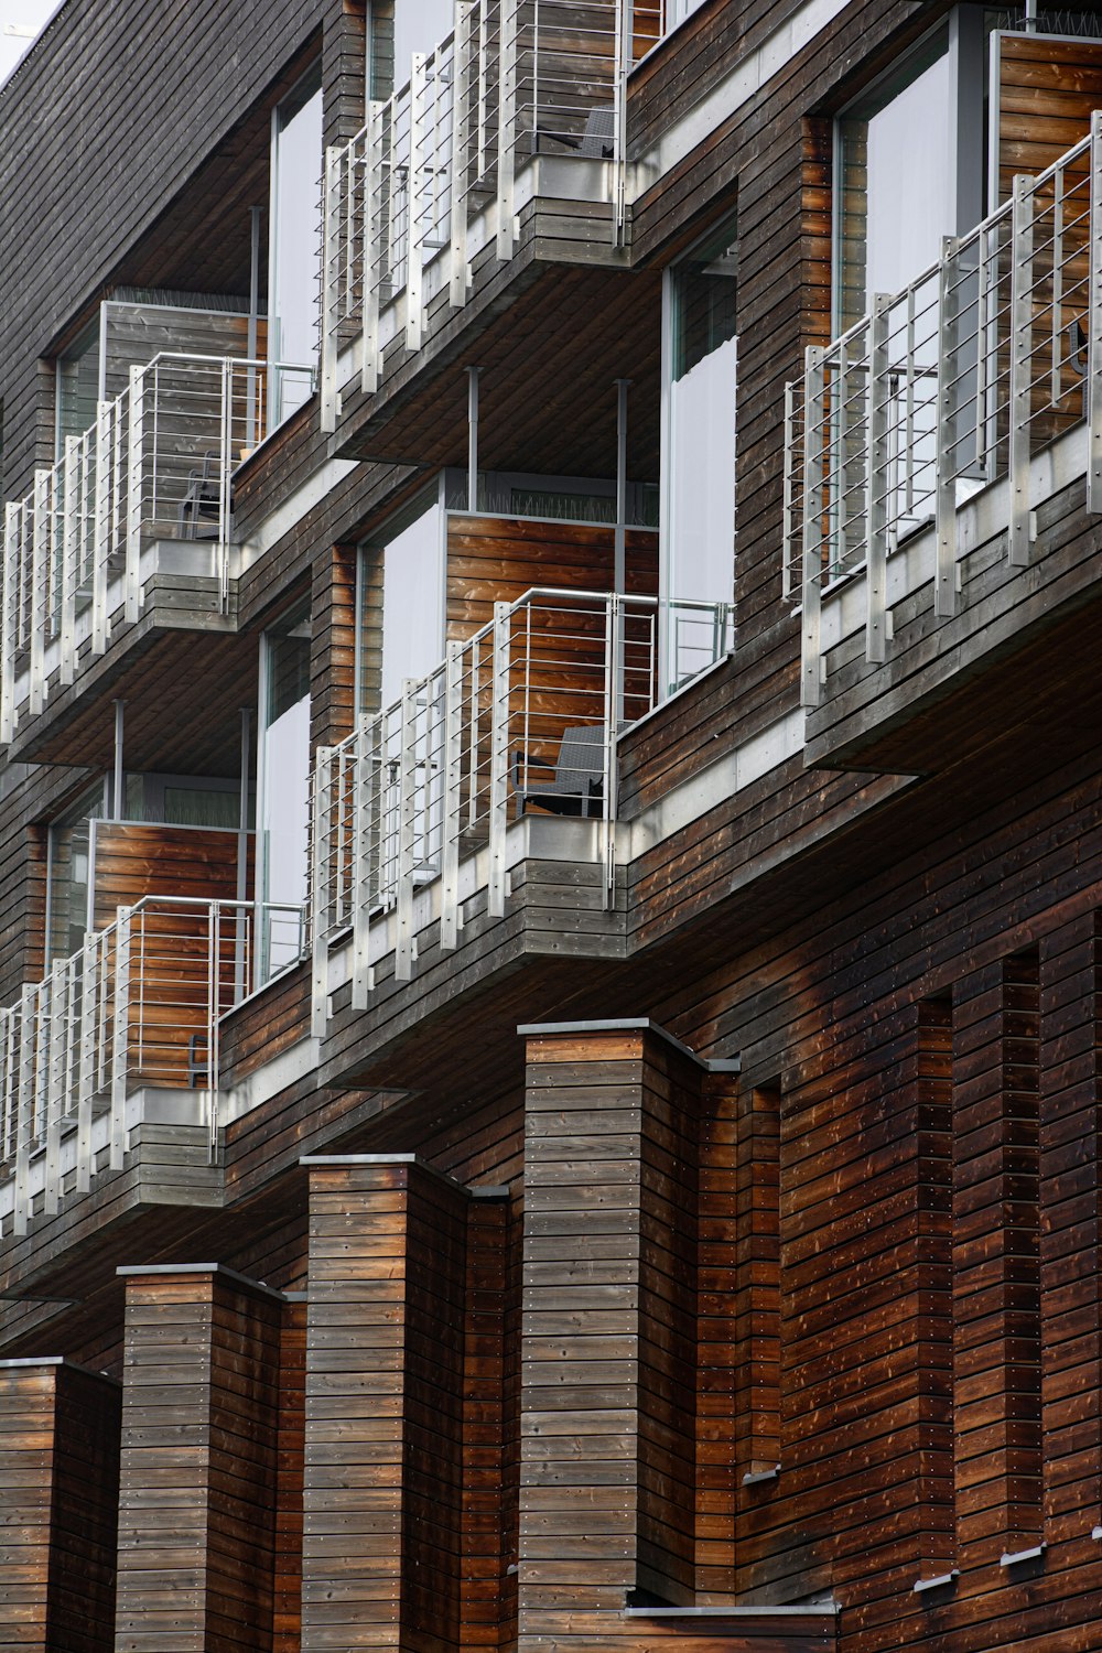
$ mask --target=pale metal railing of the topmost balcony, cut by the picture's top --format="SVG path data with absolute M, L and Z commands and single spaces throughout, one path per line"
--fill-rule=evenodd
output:
M 471 286 L 468 228 L 496 202 L 496 253 L 515 248 L 515 174 L 534 154 L 610 165 L 625 230 L 626 78 L 666 26 L 664 5 L 629 0 L 458 0 L 454 28 L 325 155 L 321 302 L 322 430 L 337 412 L 337 362 L 362 337 L 362 387 L 378 385 L 380 314 L 405 294 L 405 344 L 425 327 L 425 273 L 441 256 L 453 306 Z

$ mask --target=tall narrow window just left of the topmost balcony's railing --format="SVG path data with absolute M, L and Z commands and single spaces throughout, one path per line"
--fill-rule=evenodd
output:
M 321 64 L 273 111 L 268 253 L 268 425 L 274 430 L 311 393 L 321 279 Z

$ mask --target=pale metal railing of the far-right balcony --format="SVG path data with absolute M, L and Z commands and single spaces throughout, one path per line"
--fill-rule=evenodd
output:
M 803 603 L 803 703 L 821 696 L 826 588 L 866 572 L 866 656 L 886 658 L 887 559 L 937 537 L 933 607 L 958 602 L 957 509 L 1009 478 L 1008 559 L 1029 560 L 1029 460 L 1084 418 L 1102 509 L 1102 116 L 785 397 L 785 597 Z

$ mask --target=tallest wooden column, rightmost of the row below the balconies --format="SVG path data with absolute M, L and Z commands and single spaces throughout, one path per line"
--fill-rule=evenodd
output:
M 704 1065 L 644 1022 L 527 1038 L 520 1650 L 692 1602 Z

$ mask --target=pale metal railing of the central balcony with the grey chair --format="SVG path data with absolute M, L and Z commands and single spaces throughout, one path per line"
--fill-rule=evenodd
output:
M 487 909 L 504 914 L 511 813 L 616 820 L 616 741 L 658 703 L 658 602 L 611 592 L 535 588 L 494 618 L 401 699 L 321 747 L 311 798 L 314 1031 L 327 1022 L 327 949 L 352 932 L 352 1003 L 365 1008 L 397 914 L 395 975 L 415 960 L 413 904 L 439 886 L 441 947 L 459 931 L 459 865 L 487 851 Z M 669 617 L 682 679 L 730 651 L 727 603 L 684 602 Z M 605 833 L 606 888 L 613 836 Z

